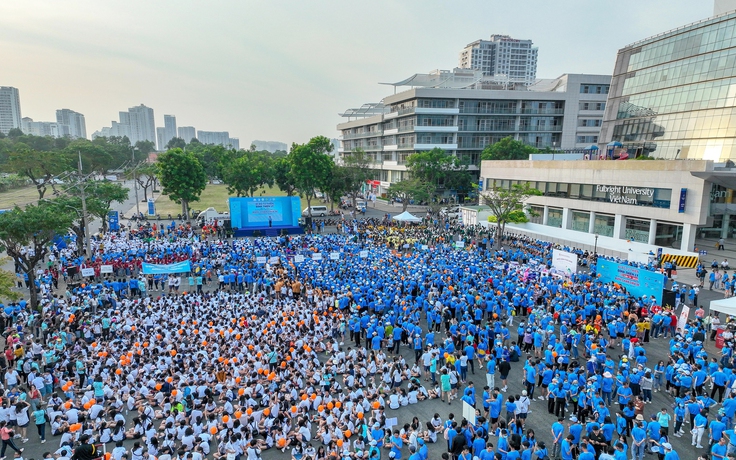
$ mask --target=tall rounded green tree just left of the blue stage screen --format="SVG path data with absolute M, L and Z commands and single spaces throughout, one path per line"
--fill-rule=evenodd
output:
M 162 153 L 156 163 L 162 193 L 181 203 L 181 213 L 189 216 L 189 203 L 199 201 L 207 186 L 207 174 L 202 163 L 192 152 L 172 149 Z

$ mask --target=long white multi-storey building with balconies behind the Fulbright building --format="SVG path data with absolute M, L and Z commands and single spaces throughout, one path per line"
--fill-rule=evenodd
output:
M 489 83 L 479 71 L 416 74 L 393 84 L 412 89 L 341 114 L 349 121 L 337 126 L 339 153 L 369 154 L 378 194 L 405 177 L 410 155 L 435 147 L 476 171 L 483 149 L 509 136 L 582 153 L 598 142 L 610 82 L 608 75 L 565 74 L 523 90 L 500 90 L 477 89 Z

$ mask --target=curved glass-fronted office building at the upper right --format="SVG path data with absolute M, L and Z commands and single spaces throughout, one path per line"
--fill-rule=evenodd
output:
M 619 50 L 601 141 L 629 157 L 736 160 L 736 11 Z

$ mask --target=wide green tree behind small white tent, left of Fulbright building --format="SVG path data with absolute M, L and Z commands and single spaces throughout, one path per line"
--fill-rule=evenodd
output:
M 454 190 L 460 195 L 472 187 L 468 166 L 440 148 L 410 155 L 406 167 L 412 178 L 427 184 L 432 212 L 438 211 L 440 199 L 446 191 Z

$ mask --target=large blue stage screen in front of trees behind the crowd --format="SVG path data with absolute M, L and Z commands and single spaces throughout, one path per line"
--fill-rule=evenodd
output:
M 301 209 L 298 196 L 230 198 L 230 221 L 233 228 L 298 227 Z

